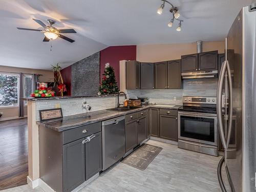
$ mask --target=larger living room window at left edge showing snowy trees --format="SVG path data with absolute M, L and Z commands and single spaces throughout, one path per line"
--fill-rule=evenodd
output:
M 0 73 L 0 106 L 18 106 L 18 74 Z

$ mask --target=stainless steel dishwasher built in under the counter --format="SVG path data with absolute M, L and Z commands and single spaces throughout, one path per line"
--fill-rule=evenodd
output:
M 125 154 L 124 116 L 102 122 L 102 168 L 109 168 Z

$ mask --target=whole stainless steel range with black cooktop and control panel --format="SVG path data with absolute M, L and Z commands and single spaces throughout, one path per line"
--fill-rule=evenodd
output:
M 216 97 L 183 97 L 178 110 L 178 147 L 218 156 Z

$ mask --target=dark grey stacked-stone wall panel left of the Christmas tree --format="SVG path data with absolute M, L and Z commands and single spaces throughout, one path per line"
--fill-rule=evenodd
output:
M 100 52 L 75 62 L 71 66 L 72 96 L 97 95 L 99 88 Z

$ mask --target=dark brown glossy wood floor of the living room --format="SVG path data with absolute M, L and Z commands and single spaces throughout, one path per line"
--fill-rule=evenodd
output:
M 0 190 L 27 184 L 27 118 L 0 122 Z

